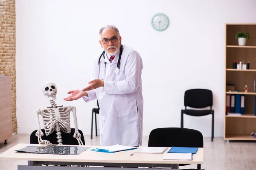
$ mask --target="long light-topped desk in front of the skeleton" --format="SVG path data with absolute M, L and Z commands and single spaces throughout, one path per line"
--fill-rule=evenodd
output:
M 0 159 L 27 160 L 28 165 L 38 164 L 59 164 L 59 165 L 89 165 L 89 166 L 114 166 L 114 167 L 172 167 L 177 168 L 178 164 L 203 164 L 203 148 L 199 148 L 193 154 L 192 161 L 183 160 L 163 160 L 163 154 L 167 154 L 168 148 L 163 154 L 134 153 L 134 150 L 127 150 L 116 153 L 101 153 L 84 151 L 79 155 L 51 155 L 36 153 L 17 153 L 28 144 L 17 144 L 0 154 Z M 77 146 L 77 145 L 76 145 Z M 88 145 L 84 146 L 88 147 Z M 97 146 L 90 146 L 96 148 Z M 134 153 L 133 156 L 130 156 Z M 174 166 L 175 165 L 175 166 Z M 173 170 L 173 169 L 172 169 Z

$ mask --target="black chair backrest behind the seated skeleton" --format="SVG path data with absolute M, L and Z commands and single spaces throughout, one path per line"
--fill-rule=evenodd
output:
M 51 134 L 49 134 L 48 136 L 46 136 L 44 129 L 41 129 L 41 130 L 44 133 L 44 136 L 42 136 L 43 140 L 48 140 L 52 144 L 58 144 L 58 142 L 57 142 L 58 139 L 57 139 L 57 135 L 56 135 L 55 131 L 52 132 Z M 84 134 L 81 130 L 78 130 L 78 131 L 81 134 L 81 141 L 85 145 Z M 37 130 L 34 130 L 30 134 L 30 144 L 38 144 L 38 137 L 35 136 L 36 132 L 37 132 Z M 71 133 L 65 133 L 65 132 L 61 131 L 61 139 L 63 141 L 62 144 L 79 145 L 76 138 L 73 138 L 74 133 L 75 133 L 75 128 L 71 128 Z

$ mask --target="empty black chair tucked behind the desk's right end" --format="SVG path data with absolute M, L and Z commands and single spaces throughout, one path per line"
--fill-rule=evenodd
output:
M 157 128 L 149 134 L 148 147 L 204 147 L 204 139 L 202 133 L 194 129 Z M 185 165 L 189 164 L 179 164 L 179 166 Z M 201 170 L 201 164 L 197 164 L 197 170 Z

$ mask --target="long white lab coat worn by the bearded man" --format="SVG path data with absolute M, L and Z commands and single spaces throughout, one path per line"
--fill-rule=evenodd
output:
M 106 68 L 102 56 L 100 71 L 99 57 L 93 62 L 92 79 L 105 77 L 104 87 L 87 91 L 88 97 L 83 98 L 85 102 L 96 98 L 99 101 L 100 144 L 140 146 L 143 131 L 142 59 L 132 48 L 124 46 L 120 70 L 116 74 L 119 53 L 112 63 L 105 54 Z

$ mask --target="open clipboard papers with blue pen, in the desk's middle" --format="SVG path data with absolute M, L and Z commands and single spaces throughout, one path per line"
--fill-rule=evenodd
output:
M 101 146 L 91 150 L 96 152 L 115 153 L 115 152 L 133 150 L 133 149 L 137 149 L 137 147 L 123 146 L 123 145 L 116 144 L 111 146 Z

